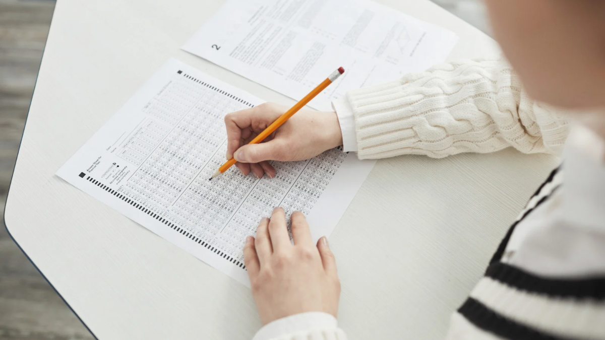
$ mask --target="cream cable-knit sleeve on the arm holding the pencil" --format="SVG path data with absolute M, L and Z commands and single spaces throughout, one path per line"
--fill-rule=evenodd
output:
M 513 146 L 558 153 L 566 115 L 530 99 L 502 59 L 464 60 L 347 94 L 360 159 L 440 158 Z

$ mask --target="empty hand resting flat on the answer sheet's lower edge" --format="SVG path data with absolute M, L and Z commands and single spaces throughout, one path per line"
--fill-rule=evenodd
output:
M 246 238 L 244 264 L 263 325 L 298 313 L 338 312 L 340 281 L 326 238 L 313 244 L 304 215 L 296 211 L 291 219 L 293 245 L 280 207 L 263 218 L 256 240 Z

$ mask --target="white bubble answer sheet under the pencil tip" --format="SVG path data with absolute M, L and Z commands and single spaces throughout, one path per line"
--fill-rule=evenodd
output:
M 225 162 L 227 113 L 262 100 L 171 59 L 76 152 L 59 177 L 249 286 L 247 235 L 282 206 L 330 235 L 374 161 L 332 149 L 273 162 L 276 177 L 246 177 Z

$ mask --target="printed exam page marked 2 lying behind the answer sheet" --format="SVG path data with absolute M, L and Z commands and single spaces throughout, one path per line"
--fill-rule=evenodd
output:
M 229 0 L 183 50 L 299 100 L 338 67 L 309 106 L 443 62 L 456 34 L 366 0 Z

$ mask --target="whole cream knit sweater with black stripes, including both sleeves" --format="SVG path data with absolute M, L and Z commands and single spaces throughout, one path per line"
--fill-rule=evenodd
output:
M 333 104 L 360 158 L 555 153 L 569 132 L 564 114 L 529 99 L 503 61 L 440 65 Z M 605 142 L 576 125 L 563 159 L 451 316 L 446 339 L 605 339 Z M 273 321 L 254 340 L 346 338 L 333 316 L 313 312 Z

